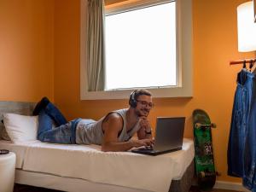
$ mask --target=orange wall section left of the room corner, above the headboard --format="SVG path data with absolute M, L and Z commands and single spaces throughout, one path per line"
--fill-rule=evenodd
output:
M 0 101 L 54 97 L 54 1 L 0 1 Z

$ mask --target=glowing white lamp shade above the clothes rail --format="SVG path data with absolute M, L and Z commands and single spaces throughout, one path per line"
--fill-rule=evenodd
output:
M 253 1 L 237 7 L 238 51 L 256 50 L 256 23 L 254 23 Z

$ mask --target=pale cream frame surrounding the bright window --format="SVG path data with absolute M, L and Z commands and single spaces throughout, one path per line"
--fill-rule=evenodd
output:
M 148 3 L 163 3 L 166 0 L 150 0 Z M 80 19 L 80 99 L 104 100 L 124 99 L 133 89 L 88 91 L 86 73 L 86 7 L 87 0 L 81 0 Z M 138 5 L 141 6 L 141 5 Z M 127 6 L 122 9 L 131 9 Z M 114 9 L 109 9 L 108 14 Z M 154 97 L 192 97 L 192 0 L 176 0 L 177 16 L 177 86 L 146 88 Z

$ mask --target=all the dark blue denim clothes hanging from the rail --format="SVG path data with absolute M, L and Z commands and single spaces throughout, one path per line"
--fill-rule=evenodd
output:
M 242 177 L 243 185 L 256 192 L 256 74 L 242 69 L 237 75 L 230 138 L 228 175 Z

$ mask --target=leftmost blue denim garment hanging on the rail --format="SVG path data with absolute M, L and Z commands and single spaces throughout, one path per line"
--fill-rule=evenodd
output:
M 237 86 L 233 103 L 228 145 L 228 175 L 243 177 L 243 157 L 247 121 L 247 73 L 241 70 L 237 75 Z

